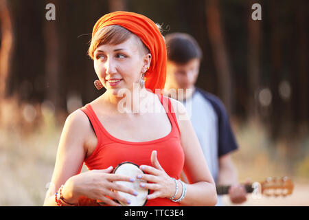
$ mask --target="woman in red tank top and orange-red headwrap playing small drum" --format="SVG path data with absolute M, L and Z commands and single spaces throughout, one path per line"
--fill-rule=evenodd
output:
M 119 206 L 113 199 L 130 203 L 113 190 L 137 195 L 115 183 L 135 178 L 111 173 L 129 161 L 145 173 L 136 178 L 148 181 L 141 184 L 150 190 L 146 206 L 214 206 L 216 188 L 201 146 L 190 120 L 180 120 L 185 107 L 154 94 L 166 74 L 157 25 L 133 12 L 106 14 L 95 23 L 89 56 L 106 92 L 67 118 L 44 205 L 82 205 L 82 198 L 108 206 Z M 141 104 L 163 111 L 141 111 Z M 80 173 L 83 162 L 89 171 Z M 179 180 L 182 170 L 190 184 Z

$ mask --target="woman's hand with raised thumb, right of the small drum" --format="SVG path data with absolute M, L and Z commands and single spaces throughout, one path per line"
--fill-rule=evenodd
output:
M 152 194 L 148 195 L 147 199 L 172 197 L 176 190 L 175 181 L 167 173 L 165 173 L 165 170 L 163 170 L 159 164 L 157 159 L 157 151 L 152 151 L 151 153 L 151 164 L 152 166 L 139 166 L 139 168 L 144 171 L 144 174 L 137 175 L 137 179 L 144 179 L 151 182 L 151 184 L 139 184 L 142 188 L 154 190 Z

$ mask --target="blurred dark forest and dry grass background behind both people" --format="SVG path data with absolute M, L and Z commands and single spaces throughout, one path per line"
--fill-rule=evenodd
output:
M 0 206 L 43 204 L 65 118 L 102 94 L 87 50 L 95 21 L 115 10 L 196 38 L 197 85 L 227 107 L 239 180 L 287 175 L 299 186 L 287 205 L 308 206 L 309 196 L 299 202 L 309 193 L 308 9 L 306 0 L 0 0 Z

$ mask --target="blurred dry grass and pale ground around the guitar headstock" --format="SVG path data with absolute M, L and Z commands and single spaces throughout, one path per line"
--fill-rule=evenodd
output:
M 232 157 L 240 182 L 287 176 L 294 185 L 293 194 L 287 197 L 263 195 L 256 199 L 248 195 L 248 200 L 238 206 L 309 206 L 309 136 L 295 138 L 297 141 L 282 137 L 282 140 L 273 142 L 257 122 L 235 127 L 240 150 Z M 227 206 L 237 206 L 226 195 L 223 201 Z

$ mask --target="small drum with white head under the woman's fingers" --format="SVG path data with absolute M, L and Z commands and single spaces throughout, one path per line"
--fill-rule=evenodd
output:
M 122 201 L 117 202 L 120 203 L 122 206 L 144 206 L 147 202 L 147 195 L 149 194 L 149 190 L 146 188 L 141 188 L 141 186 L 139 186 L 141 182 L 147 182 L 144 179 L 136 178 L 137 175 L 144 174 L 144 172 L 139 169 L 139 166 L 137 166 L 137 164 L 133 164 L 132 162 L 123 162 L 121 164 L 118 164 L 118 166 L 113 170 L 113 173 L 133 177 L 135 179 L 133 183 L 130 181 L 117 181 L 117 184 L 121 184 L 128 188 L 133 188 L 133 190 L 138 193 L 137 196 L 134 196 L 126 192 L 118 192 L 119 195 L 121 195 L 122 197 L 130 199 L 131 203 L 123 203 Z

